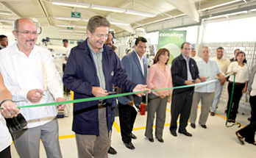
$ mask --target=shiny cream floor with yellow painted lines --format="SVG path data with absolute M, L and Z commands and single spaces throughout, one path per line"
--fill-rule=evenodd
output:
M 137 115 L 135 128 L 133 133 L 138 137 L 137 140 L 132 140 L 135 150 L 130 150 L 124 146 L 121 141 L 119 129 L 119 119 L 115 117 L 115 126 L 113 127 L 112 145 L 118 154 L 110 155 L 109 157 L 121 158 L 162 158 L 162 157 L 196 157 L 196 158 L 216 158 L 216 157 L 244 157 L 255 158 L 256 146 L 246 143 L 241 145 L 235 136 L 235 131 L 238 126 L 226 127 L 224 104 L 220 104 L 217 109 L 217 115 L 209 116 L 207 120 L 207 129 L 203 129 L 196 123 L 196 129 L 192 129 L 189 123 L 188 132 L 193 134 L 193 137 L 187 137 L 178 133 L 178 137 L 173 137 L 169 132 L 169 123 L 171 119 L 170 104 L 166 109 L 166 126 L 163 132 L 164 143 L 154 139 L 154 143 L 144 137 L 146 115 Z M 198 117 L 200 113 L 198 109 Z M 71 112 L 70 112 L 71 113 Z M 237 121 L 243 125 L 249 123 L 247 118 L 249 115 L 238 114 Z M 59 119 L 60 126 L 60 146 L 64 158 L 77 157 L 77 145 L 74 138 L 74 132 L 71 132 L 72 116 Z M 15 147 L 11 146 L 12 156 L 18 157 Z M 40 145 L 40 157 L 46 157 L 43 144 Z

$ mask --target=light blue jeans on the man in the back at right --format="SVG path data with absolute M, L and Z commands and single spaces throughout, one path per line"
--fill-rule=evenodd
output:
M 210 107 L 210 112 L 216 112 L 216 109 L 218 107 L 219 98 L 221 98 L 222 89 L 223 89 L 223 85 L 221 85 L 221 82 L 219 80 L 216 81 L 215 82 L 215 92 L 214 92 L 212 105 Z

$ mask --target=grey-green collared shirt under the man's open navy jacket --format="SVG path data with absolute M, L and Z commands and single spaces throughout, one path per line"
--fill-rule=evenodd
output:
M 94 60 L 95 66 L 96 66 L 97 76 L 98 76 L 98 79 L 99 79 L 99 85 L 103 90 L 105 90 L 106 89 L 106 83 L 105 83 L 105 76 L 104 76 L 103 68 L 102 68 L 103 48 L 99 49 L 99 53 L 96 54 L 96 52 L 93 51 L 93 49 L 90 47 L 89 42 L 87 42 L 87 43 L 88 43 L 88 46 L 90 48 L 90 52 L 93 55 L 93 60 Z

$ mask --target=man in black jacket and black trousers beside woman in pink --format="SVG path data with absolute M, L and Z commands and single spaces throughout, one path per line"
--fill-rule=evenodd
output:
M 171 76 L 174 87 L 193 85 L 199 83 L 199 70 L 195 60 L 190 57 L 191 43 L 182 43 L 182 54 L 171 62 Z M 179 118 L 179 133 L 191 137 L 192 134 L 185 129 L 191 114 L 194 87 L 185 87 L 173 90 L 171 101 L 171 126 L 170 131 L 177 137 L 177 119 Z

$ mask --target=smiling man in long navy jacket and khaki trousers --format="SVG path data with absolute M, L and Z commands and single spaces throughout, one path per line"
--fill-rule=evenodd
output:
M 113 84 L 124 91 L 149 90 L 128 79 L 113 49 L 104 45 L 110 29 L 106 18 L 96 15 L 87 25 L 88 38 L 71 49 L 63 82 L 74 91 L 74 99 L 107 96 Z M 150 91 L 150 90 L 149 90 Z M 112 98 L 74 104 L 72 130 L 80 158 L 106 158 L 110 148 Z

